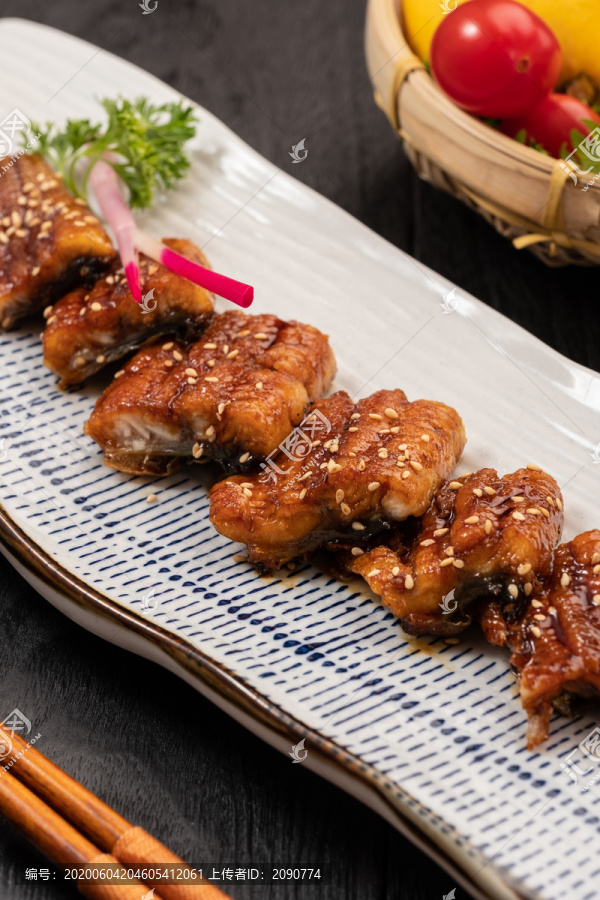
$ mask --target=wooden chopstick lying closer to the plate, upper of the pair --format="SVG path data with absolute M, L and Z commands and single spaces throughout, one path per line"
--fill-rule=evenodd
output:
M 38 797 L 72 822 L 102 852 L 110 854 L 127 868 L 152 869 L 157 864 L 191 868 L 143 828 L 131 825 L 39 750 L 28 746 L 18 734 L 8 735 L 0 727 L 1 737 L 25 751 L 12 765 L 10 771 L 14 778 L 31 788 Z M 0 773 L 0 785 L 6 774 Z M 148 884 L 160 891 L 160 897 L 155 894 L 155 900 L 229 900 L 219 888 L 206 881 L 198 884 L 149 881 Z

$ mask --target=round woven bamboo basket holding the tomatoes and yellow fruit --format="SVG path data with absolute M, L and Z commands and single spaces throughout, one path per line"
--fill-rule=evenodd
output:
M 459 109 L 402 31 L 401 0 L 369 0 L 365 36 L 375 100 L 421 178 L 476 209 L 517 249 L 550 266 L 600 263 L 600 180 L 578 176 Z

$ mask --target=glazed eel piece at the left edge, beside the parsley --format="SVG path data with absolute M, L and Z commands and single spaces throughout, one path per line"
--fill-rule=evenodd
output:
M 115 255 L 110 238 L 36 155 L 0 159 L 0 328 L 90 285 Z

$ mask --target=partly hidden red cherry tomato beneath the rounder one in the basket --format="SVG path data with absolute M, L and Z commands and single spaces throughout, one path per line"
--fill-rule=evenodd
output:
M 589 133 L 590 128 L 585 125 L 584 119 L 600 125 L 598 113 L 577 97 L 569 97 L 568 94 L 550 94 L 527 116 L 505 119 L 500 131 L 509 137 L 515 137 L 519 131 L 525 129 L 528 139 L 533 138 L 548 151 L 550 156 L 559 159 L 563 144 L 567 145 L 567 152 L 573 149 L 571 143 L 573 129 L 579 131 L 582 137 Z

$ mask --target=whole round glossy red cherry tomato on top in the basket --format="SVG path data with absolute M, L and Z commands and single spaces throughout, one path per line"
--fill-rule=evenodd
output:
M 548 96 L 562 54 L 554 34 L 515 0 L 471 0 L 445 16 L 431 44 L 433 77 L 479 116 L 522 116 Z

